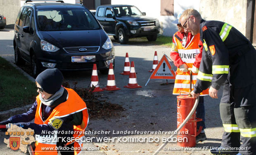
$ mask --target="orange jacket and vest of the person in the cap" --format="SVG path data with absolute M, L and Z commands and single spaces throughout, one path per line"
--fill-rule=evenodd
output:
M 175 84 L 173 88 L 173 94 L 179 95 L 180 91 L 189 92 L 190 89 L 190 71 L 182 72 L 179 66 L 186 64 L 188 68 L 199 68 L 201 61 L 201 53 L 199 50 L 200 35 L 192 36 L 188 33 L 187 40 L 183 36 L 183 33 L 176 32 L 173 35 L 173 47 L 171 51 L 171 58 L 173 63 L 177 66 Z M 192 90 L 197 79 L 197 73 L 192 73 Z M 183 93 L 186 94 L 186 93 Z M 201 95 L 208 95 L 208 90 L 205 90 Z

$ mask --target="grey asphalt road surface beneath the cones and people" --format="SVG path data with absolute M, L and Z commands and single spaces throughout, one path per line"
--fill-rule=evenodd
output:
M 0 56 L 14 63 L 14 50 L 12 45 L 13 31 L 0 31 Z M 165 53 L 169 56 L 170 48 L 156 46 L 147 42 L 129 42 L 128 45 L 121 45 L 113 38 L 114 48 L 116 52 L 115 78 L 117 87 L 121 90 L 114 92 L 100 92 L 106 100 L 111 103 L 121 104 L 126 110 L 119 117 L 110 117 L 99 120 L 89 120 L 87 127 L 94 131 L 107 131 L 107 134 L 90 133 L 87 136 L 92 138 L 92 141 L 84 142 L 84 147 L 87 150 L 82 154 L 86 155 L 152 155 L 163 139 L 171 136 L 171 134 L 160 133 L 161 131 L 175 131 L 177 129 L 177 99 L 172 95 L 173 84 L 161 85 L 166 80 L 150 80 L 145 86 L 151 73 L 154 51 L 157 51 L 158 60 Z M 126 52 L 129 54 L 130 62 L 135 62 L 135 70 L 137 72 L 137 82 L 142 88 L 127 89 L 123 86 L 128 84 L 128 75 L 120 75 L 123 71 Z M 102 75 L 98 71 L 100 87 L 106 87 L 107 75 Z M 74 82 L 77 82 L 76 87 L 88 87 L 90 85 L 91 71 L 83 72 L 65 72 L 64 78 L 69 82 L 71 87 L 74 87 Z M 173 82 L 173 80 L 168 80 Z M 185 150 L 178 147 L 177 143 L 171 142 L 162 150 L 161 155 L 209 155 L 209 148 L 220 146 L 223 127 L 219 114 L 219 102 L 222 90 L 219 91 L 219 99 L 211 99 L 205 97 L 206 111 L 206 136 L 207 140 L 197 143 L 194 151 Z M 118 133 L 124 131 L 139 131 L 150 132 L 157 131 L 157 134 L 126 134 Z M 160 132 L 159 132 L 160 131 Z M 2 133 L 3 134 L 3 133 Z M 0 136 L 1 154 L 14 154 L 14 151 L 6 147 L 3 143 L 3 138 Z M 106 137 L 110 142 L 96 141 L 96 137 Z M 110 138 L 109 138 L 110 137 Z M 116 137 L 114 142 L 111 142 L 111 137 Z M 129 139 L 144 139 L 153 137 L 155 142 L 131 142 Z M 119 139 L 118 139 L 119 138 Z M 159 141 L 158 141 L 159 139 Z M 129 142 L 128 142 L 129 141 Z M 97 150 L 101 148 L 101 150 Z M 15 154 L 24 154 L 16 151 Z

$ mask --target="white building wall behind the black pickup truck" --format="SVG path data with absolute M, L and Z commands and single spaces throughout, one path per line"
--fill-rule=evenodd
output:
M 174 0 L 174 16 L 161 16 L 161 0 L 111 0 L 111 4 L 135 5 L 141 12 L 146 12 L 147 16 L 159 19 L 161 24 L 161 34 L 172 36 L 178 31 L 174 21 L 178 14 L 184 9 L 194 8 L 199 10 L 200 0 Z

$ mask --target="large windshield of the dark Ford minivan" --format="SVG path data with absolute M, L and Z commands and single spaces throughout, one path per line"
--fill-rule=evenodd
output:
M 40 9 L 37 11 L 39 31 L 95 30 L 100 26 L 85 9 Z

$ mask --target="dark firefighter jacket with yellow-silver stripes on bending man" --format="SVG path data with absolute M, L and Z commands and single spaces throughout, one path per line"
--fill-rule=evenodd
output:
M 236 28 L 221 21 L 201 20 L 200 40 L 204 48 L 194 93 L 210 85 L 218 90 L 226 80 L 235 88 L 256 82 L 256 50 Z

